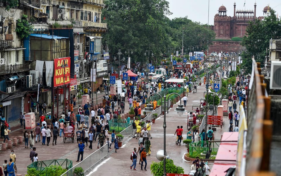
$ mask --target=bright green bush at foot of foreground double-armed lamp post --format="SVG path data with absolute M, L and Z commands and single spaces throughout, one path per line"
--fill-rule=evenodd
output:
M 159 163 L 152 161 L 150 170 L 153 176 L 162 176 L 164 172 L 163 161 L 160 161 Z M 173 174 L 183 174 L 184 168 L 174 165 L 174 161 L 172 159 L 166 159 L 166 172 Z

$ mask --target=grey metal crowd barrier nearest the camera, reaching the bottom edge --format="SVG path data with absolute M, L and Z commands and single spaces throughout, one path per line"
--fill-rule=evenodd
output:
M 80 163 L 76 164 L 66 172 L 64 172 L 61 176 L 74 176 L 73 171 L 77 167 L 81 167 L 84 172 L 89 170 L 93 165 L 98 163 L 100 160 L 102 160 L 104 157 L 108 156 L 109 153 L 107 152 L 108 146 L 107 144 L 104 144 L 101 148 L 94 151 L 92 154 L 90 154 L 87 158 L 82 160 Z

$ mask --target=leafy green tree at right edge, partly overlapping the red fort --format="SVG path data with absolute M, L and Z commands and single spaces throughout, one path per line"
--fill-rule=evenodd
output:
M 241 45 L 246 47 L 246 51 L 241 54 L 243 58 L 242 68 L 246 74 L 252 70 L 252 56 L 263 65 L 270 39 L 280 39 L 280 37 L 281 21 L 280 18 L 276 17 L 273 9 L 270 10 L 270 16 L 265 17 L 264 20 L 257 19 L 249 22 L 246 35 L 241 42 Z

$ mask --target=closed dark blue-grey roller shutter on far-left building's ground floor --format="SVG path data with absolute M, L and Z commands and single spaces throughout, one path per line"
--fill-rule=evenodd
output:
M 8 122 L 13 122 L 19 119 L 21 111 L 21 98 L 11 99 L 11 105 L 8 105 L 7 117 Z

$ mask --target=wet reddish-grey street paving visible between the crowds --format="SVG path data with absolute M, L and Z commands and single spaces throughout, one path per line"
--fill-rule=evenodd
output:
M 203 92 L 205 91 L 205 85 L 198 86 L 197 93 L 189 93 L 188 96 L 188 102 L 186 105 L 186 110 L 191 110 L 193 104 L 199 104 L 198 100 L 200 98 L 203 98 Z M 98 94 L 99 95 L 99 94 Z M 102 97 L 104 94 L 101 94 Z M 94 96 L 95 97 L 95 96 Z M 127 98 L 126 98 L 127 99 Z M 100 99 L 101 100 L 101 99 Z M 179 104 L 179 102 L 177 103 Z M 166 122 L 167 122 L 167 128 L 166 128 L 166 151 L 168 156 L 172 160 L 174 160 L 174 164 L 177 166 L 181 166 L 184 168 L 184 173 L 188 174 L 190 171 L 191 162 L 188 162 L 183 159 L 184 153 L 187 152 L 187 149 L 184 144 L 181 146 L 177 146 L 175 144 L 176 142 L 176 136 L 174 136 L 175 130 L 177 129 L 177 126 L 183 126 L 184 132 L 183 132 L 183 138 L 186 139 L 187 137 L 187 112 L 184 113 L 181 117 L 177 115 L 177 112 L 175 112 L 175 108 L 177 105 L 174 105 L 173 108 L 169 109 L 169 113 L 166 114 Z M 128 112 L 128 103 L 127 100 L 125 102 L 125 112 Z M 227 122 L 228 118 L 224 117 L 225 122 Z M 103 161 L 100 162 L 88 175 L 103 175 L 103 174 L 112 174 L 112 175 L 131 175 L 134 173 L 138 173 L 138 175 L 151 175 L 150 172 L 150 164 L 152 161 L 158 162 L 156 159 L 156 152 L 159 149 L 163 149 L 163 121 L 164 116 L 160 116 L 156 119 L 155 124 L 152 124 L 151 127 L 151 135 L 153 136 L 151 141 L 151 156 L 147 157 L 147 171 L 141 171 L 140 165 L 137 163 L 136 169 L 137 171 L 130 170 L 130 165 L 132 164 L 130 158 L 131 152 L 133 151 L 133 148 L 138 148 L 138 140 L 135 138 L 131 138 L 128 140 L 127 143 L 123 143 L 123 146 L 117 150 L 117 153 L 112 153 L 109 157 L 105 158 Z M 19 130 L 17 130 L 19 129 Z M 214 132 L 215 134 L 215 140 L 220 140 L 220 137 L 223 132 L 228 130 L 228 124 L 226 123 L 222 129 L 217 128 L 217 131 Z M 19 128 L 19 126 L 12 127 L 12 133 L 9 135 L 12 139 L 12 136 L 23 136 L 23 129 Z M 41 139 L 42 140 L 42 139 Z M 87 147 L 84 150 L 84 158 L 86 158 L 88 155 L 93 153 L 95 150 L 97 150 L 97 141 L 93 142 L 93 150 L 89 150 Z M 57 145 L 52 146 L 52 138 L 50 145 L 42 145 L 42 143 L 35 143 L 34 147 L 37 148 L 36 152 L 38 153 L 39 160 L 52 160 L 52 159 L 61 159 L 61 158 L 67 158 L 73 161 L 73 166 L 76 165 L 77 160 L 77 154 L 78 154 L 78 146 L 77 142 L 74 141 L 66 141 L 66 143 L 63 142 L 63 137 L 58 137 Z M 24 148 L 24 143 L 19 144 L 18 146 L 15 146 L 12 148 L 14 150 L 14 153 L 17 156 L 16 165 L 18 168 L 18 174 L 26 174 L 27 166 L 31 164 L 31 161 L 29 159 L 29 153 L 32 149 L 30 148 Z M 109 150 L 114 150 L 114 147 Z M 10 149 L 7 151 L 0 151 L 0 158 L 2 162 L 4 163 L 4 159 L 9 159 Z M 138 157 L 139 159 L 139 157 Z M 210 163 L 210 168 L 212 168 L 212 164 Z

